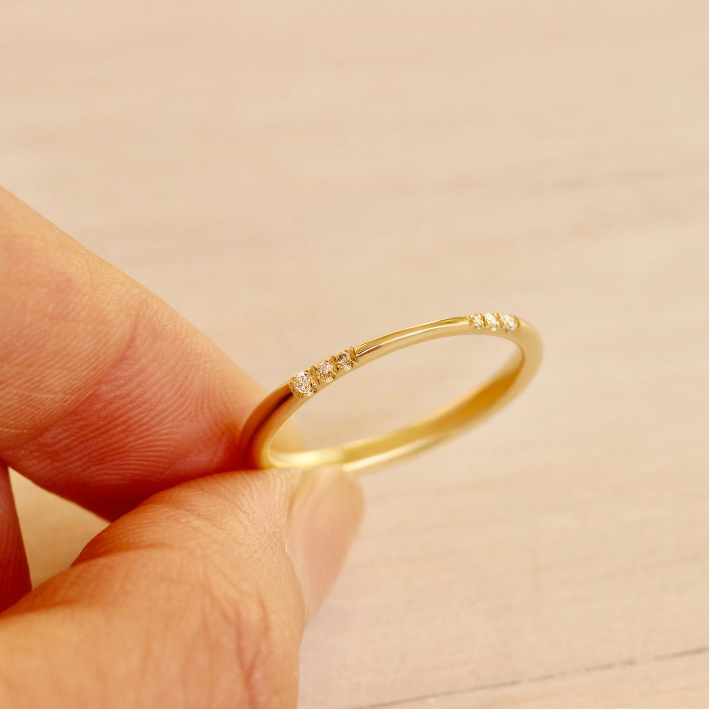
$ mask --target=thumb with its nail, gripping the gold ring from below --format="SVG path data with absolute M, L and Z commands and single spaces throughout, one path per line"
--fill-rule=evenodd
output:
M 0 615 L 0 706 L 294 708 L 308 606 L 362 508 L 332 469 L 158 493 Z

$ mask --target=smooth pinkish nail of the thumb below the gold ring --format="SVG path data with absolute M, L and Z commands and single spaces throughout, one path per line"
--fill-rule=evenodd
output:
M 363 512 L 362 487 L 342 467 L 303 472 L 289 509 L 287 543 L 311 617 L 335 584 Z

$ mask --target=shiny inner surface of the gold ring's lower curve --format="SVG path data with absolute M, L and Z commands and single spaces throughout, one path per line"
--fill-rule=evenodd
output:
M 403 457 L 435 445 L 452 433 L 479 423 L 503 406 L 508 395 L 516 389 L 514 384 L 518 381 L 524 364 L 525 355 L 517 345 L 513 355 L 484 384 L 411 424 L 381 435 L 306 451 L 283 450 L 277 447 L 276 435 L 267 448 L 266 455 L 277 467 L 307 469 L 315 465 L 340 464 L 350 471 Z

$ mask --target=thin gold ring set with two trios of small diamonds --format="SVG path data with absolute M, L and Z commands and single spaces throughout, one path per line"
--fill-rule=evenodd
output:
M 492 335 L 517 348 L 490 379 L 454 401 L 403 428 L 344 445 L 318 450 L 291 450 L 275 445 L 278 430 L 314 394 L 374 359 L 419 342 L 452 335 Z M 298 372 L 252 411 L 240 444 L 251 469 L 308 469 L 339 464 L 348 471 L 369 471 L 441 443 L 480 423 L 511 401 L 532 379 L 542 359 L 542 341 L 532 325 L 516 316 L 478 313 L 435 320 L 367 340 Z

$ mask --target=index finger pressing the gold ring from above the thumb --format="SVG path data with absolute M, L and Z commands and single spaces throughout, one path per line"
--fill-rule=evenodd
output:
M 116 518 L 240 469 L 260 387 L 160 298 L 0 189 L 0 459 Z

